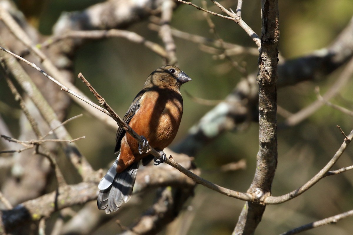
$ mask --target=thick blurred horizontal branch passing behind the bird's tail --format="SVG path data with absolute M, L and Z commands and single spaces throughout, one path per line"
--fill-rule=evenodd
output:
M 179 159 L 182 156 L 177 154 L 176 157 Z M 184 164 L 187 164 L 187 162 L 190 164 L 189 158 L 185 158 L 180 158 L 180 161 L 184 162 Z M 97 182 L 101 178 L 101 171 L 93 172 L 91 175 L 92 182 L 61 186 L 58 188 L 58 193 L 52 192 L 36 199 L 28 200 L 17 205 L 12 210 L 0 210 L 0 228 L 3 226 L 5 228 L 4 231 L 9 232 L 19 223 L 38 221 L 42 217 L 48 217 L 53 212 L 63 208 L 95 200 L 98 193 Z M 166 164 L 158 166 L 158 171 L 156 171 L 156 166 L 148 166 L 139 170 L 134 194 L 142 192 L 146 188 L 168 185 L 192 188 L 195 183 L 186 175 Z M 1 230 L 0 235 L 2 235 Z

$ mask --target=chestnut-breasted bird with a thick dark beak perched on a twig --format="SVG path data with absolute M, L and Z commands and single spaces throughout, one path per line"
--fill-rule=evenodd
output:
M 114 149 L 118 157 L 98 184 L 98 209 L 110 214 L 130 200 L 140 161 L 145 166 L 152 159 L 155 165 L 166 160 L 163 149 L 177 135 L 183 115 L 180 86 L 188 81 L 191 78 L 172 65 L 157 68 L 147 77 L 123 118 L 143 143 L 119 126 Z M 161 159 L 146 153 L 147 143 L 161 153 Z

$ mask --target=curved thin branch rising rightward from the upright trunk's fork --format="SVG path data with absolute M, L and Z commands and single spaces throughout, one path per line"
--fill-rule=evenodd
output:
M 298 197 L 300 194 L 304 193 L 305 191 L 309 190 L 313 185 L 315 185 L 319 180 L 324 178 L 327 174 L 328 171 L 332 168 L 332 166 L 338 161 L 340 156 L 343 154 L 345 149 L 347 148 L 348 144 L 352 141 L 353 138 L 353 130 L 351 133 L 345 138 L 343 143 L 341 144 L 341 147 L 336 151 L 335 155 L 332 157 L 332 159 L 324 166 L 321 171 L 319 171 L 313 178 L 311 178 L 306 184 L 301 186 L 300 188 L 284 194 L 282 196 L 270 196 L 264 199 L 265 204 L 279 204 L 283 202 L 287 202 L 288 200 L 291 200 L 292 198 Z

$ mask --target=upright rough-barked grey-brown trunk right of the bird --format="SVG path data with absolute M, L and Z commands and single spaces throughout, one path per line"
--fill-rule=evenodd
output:
M 262 1 L 262 32 L 259 57 L 259 151 L 255 177 L 247 191 L 257 199 L 247 202 L 233 234 L 253 234 L 261 221 L 264 196 L 271 194 L 277 166 L 277 54 L 279 42 L 279 11 L 277 0 Z

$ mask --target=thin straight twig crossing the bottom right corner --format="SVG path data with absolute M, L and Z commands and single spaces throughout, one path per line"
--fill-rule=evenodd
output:
M 286 233 L 281 233 L 280 235 L 292 235 L 292 234 L 297 234 L 297 233 L 301 233 L 303 231 L 307 231 L 309 229 L 313 229 L 313 228 L 317 228 L 326 224 L 331 224 L 331 223 L 337 223 L 338 221 L 340 221 L 343 218 L 349 217 L 349 216 L 353 216 L 353 210 L 350 211 L 346 211 L 344 213 L 335 215 L 335 216 L 331 216 L 325 219 L 321 219 L 318 220 L 316 222 L 312 222 L 312 223 L 308 223 L 305 224 L 303 226 L 300 226 L 298 228 L 292 229 Z

